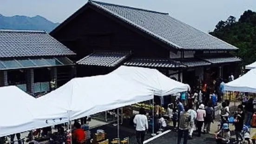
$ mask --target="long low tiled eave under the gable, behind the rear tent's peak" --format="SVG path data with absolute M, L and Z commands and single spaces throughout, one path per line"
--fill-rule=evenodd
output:
M 184 67 L 180 63 L 171 59 L 156 59 L 156 58 L 134 58 L 124 63 L 129 66 L 141 66 L 141 67 Z

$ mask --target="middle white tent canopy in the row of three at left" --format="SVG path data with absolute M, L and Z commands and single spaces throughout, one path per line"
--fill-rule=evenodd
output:
M 70 120 L 150 100 L 153 92 L 117 75 L 75 78 L 38 98 L 70 111 Z

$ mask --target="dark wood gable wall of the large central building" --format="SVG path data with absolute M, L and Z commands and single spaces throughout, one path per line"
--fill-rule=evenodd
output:
M 87 8 L 52 35 L 78 54 L 76 60 L 93 50 L 132 51 L 134 57 L 169 57 L 168 49 L 114 19 Z

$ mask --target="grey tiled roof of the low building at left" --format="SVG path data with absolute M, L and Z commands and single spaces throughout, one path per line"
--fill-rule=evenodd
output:
M 0 58 L 75 55 L 43 31 L 0 30 Z

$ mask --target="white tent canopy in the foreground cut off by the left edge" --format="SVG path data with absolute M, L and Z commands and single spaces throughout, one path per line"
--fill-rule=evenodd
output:
M 68 121 L 67 111 L 39 102 L 16 86 L 0 87 L 0 93 L 0 137 Z

